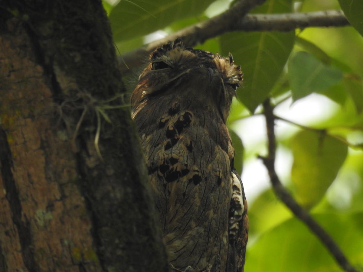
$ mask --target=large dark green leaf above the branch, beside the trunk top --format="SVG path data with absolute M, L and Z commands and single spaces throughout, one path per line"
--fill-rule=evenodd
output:
M 213 0 L 121 0 L 110 13 L 114 41 L 162 29 L 174 21 L 201 14 Z

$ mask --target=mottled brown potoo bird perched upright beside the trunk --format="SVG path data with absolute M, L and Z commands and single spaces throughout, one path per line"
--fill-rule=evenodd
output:
M 131 95 L 169 261 L 180 270 L 243 271 L 247 202 L 226 126 L 241 85 L 232 55 L 156 49 Z

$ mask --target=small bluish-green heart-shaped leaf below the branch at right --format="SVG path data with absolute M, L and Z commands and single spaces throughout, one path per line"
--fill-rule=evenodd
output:
M 325 91 L 343 77 L 340 70 L 325 65 L 304 51 L 290 58 L 288 72 L 294 101 L 312 92 Z

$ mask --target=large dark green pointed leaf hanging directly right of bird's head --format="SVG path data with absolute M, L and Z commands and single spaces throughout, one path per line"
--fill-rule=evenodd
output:
M 269 0 L 252 13 L 291 12 L 290 0 Z M 293 48 L 294 32 L 233 32 L 220 37 L 221 53 L 233 54 L 244 73 L 237 97 L 251 111 L 269 95 Z

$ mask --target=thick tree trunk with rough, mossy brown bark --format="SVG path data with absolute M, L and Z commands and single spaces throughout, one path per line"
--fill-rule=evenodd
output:
M 100 0 L 2 1 L 0 271 L 167 271 L 122 92 Z

